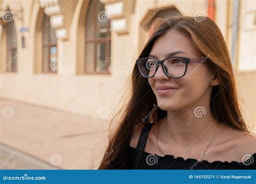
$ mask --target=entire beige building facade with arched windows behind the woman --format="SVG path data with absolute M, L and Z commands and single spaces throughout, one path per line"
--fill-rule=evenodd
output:
M 0 0 L 0 97 L 109 119 L 129 96 L 153 20 L 203 15 L 224 35 L 256 133 L 255 8 L 253 0 Z

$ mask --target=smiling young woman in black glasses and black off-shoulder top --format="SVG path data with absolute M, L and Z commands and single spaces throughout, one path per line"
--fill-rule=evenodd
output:
M 202 19 L 160 19 L 99 169 L 256 169 L 225 40 Z

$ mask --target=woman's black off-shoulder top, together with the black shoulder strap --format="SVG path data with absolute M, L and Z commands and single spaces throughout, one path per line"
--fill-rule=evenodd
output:
M 160 157 L 144 151 L 147 137 L 153 123 L 146 124 L 140 134 L 137 148 L 129 147 L 129 161 L 126 169 L 256 169 L 256 153 L 245 155 L 244 162 L 198 161 L 197 159 L 174 158 L 174 155 Z

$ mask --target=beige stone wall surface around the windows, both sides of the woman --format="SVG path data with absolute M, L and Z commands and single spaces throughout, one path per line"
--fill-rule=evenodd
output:
M 2 3 L 1 3 L 2 2 Z M 87 1 L 57 1 L 60 8 L 65 7 L 60 13 L 64 22 L 56 26 L 57 30 L 65 29 L 66 38 L 58 38 L 58 56 L 62 67 L 57 74 L 42 74 L 37 72 L 40 67 L 40 55 L 37 54 L 39 35 L 37 34 L 37 22 L 40 11 L 44 10 L 44 1 L 15 1 L 2 0 L 0 8 L 10 10 L 18 9 L 21 5 L 23 11 L 23 23 L 15 19 L 18 39 L 18 72 L 0 73 L 0 97 L 10 98 L 44 107 L 59 108 L 60 110 L 75 112 L 92 117 L 99 117 L 98 110 L 102 107 L 109 109 L 109 119 L 118 107 L 120 96 L 127 91 L 127 77 L 131 74 L 139 52 L 143 48 L 149 36 L 149 31 L 141 26 L 145 16 L 156 9 L 165 10 L 175 7 L 183 15 L 194 16 L 198 12 L 207 15 L 207 1 L 161 1 L 161 0 L 137 0 L 122 1 L 124 9 L 121 15 L 110 17 L 111 20 L 126 20 L 125 29 L 112 31 L 111 33 L 111 75 L 82 74 L 84 58 L 84 20 L 87 9 Z M 64 3 L 65 2 L 65 3 Z M 111 5 L 116 1 L 103 1 Z M 250 59 L 255 63 L 255 24 L 251 26 L 251 18 L 244 18 L 253 9 L 253 1 L 242 1 L 238 44 L 238 63 Z M 217 0 L 215 21 L 227 41 L 231 45 L 232 2 Z M 254 8 L 253 8 L 254 7 Z M 246 14 L 247 13 L 247 14 Z M 252 14 L 253 15 L 253 14 Z M 54 14 L 51 15 L 55 16 Z M 29 27 L 29 32 L 21 33 L 19 28 Z M 0 26 L 0 33 L 1 32 Z M 21 48 L 22 34 L 26 39 L 26 47 Z M 252 39 L 254 38 L 254 40 Z M 2 37 L 1 37 L 2 39 Z M 1 45 L 0 51 L 2 51 Z M 4 53 L 1 52 L 1 63 Z M 237 69 L 237 68 L 235 68 Z M 244 98 L 247 106 L 256 103 L 255 100 L 255 69 L 247 73 L 238 72 L 239 94 Z M 254 85 L 253 85 L 254 84 Z M 252 90 L 246 90 L 246 86 Z M 255 124 L 254 113 L 251 113 L 250 122 Z M 255 132 L 255 129 L 254 129 Z

